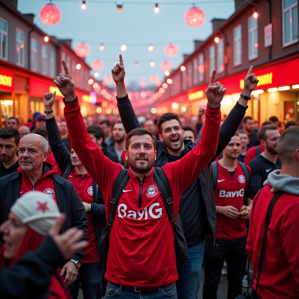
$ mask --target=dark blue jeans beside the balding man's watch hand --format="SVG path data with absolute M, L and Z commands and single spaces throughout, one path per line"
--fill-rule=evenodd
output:
M 84 299 L 101 299 L 103 272 L 103 262 L 82 263 L 78 269 L 77 280 L 69 287 L 72 297 L 78 297 L 81 283 Z

